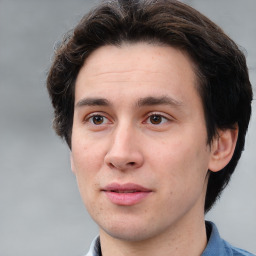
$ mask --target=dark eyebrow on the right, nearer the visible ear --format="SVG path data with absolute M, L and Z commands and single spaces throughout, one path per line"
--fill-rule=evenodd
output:
M 180 107 L 183 105 L 183 103 L 169 96 L 162 96 L 162 97 L 149 96 L 145 98 L 140 98 L 137 102 L 138 107 L 154 106 L 154 105 L 171 105 L 173 107 Z

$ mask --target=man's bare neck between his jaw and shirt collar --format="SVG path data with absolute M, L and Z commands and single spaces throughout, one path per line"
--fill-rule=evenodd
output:
M 198 256 L 207 244 L 204 217 L 191 221 L 180 220 L 171 231 L 143 241 L 125 241 L 100 231 L 103 256 Z M 182 224 L 182 225 L 181 225 Z

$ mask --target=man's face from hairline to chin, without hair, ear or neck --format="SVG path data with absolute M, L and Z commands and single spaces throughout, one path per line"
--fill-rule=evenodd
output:
M 211 162 L 193 64 L 149 44 L 104 46 L 75 85 L 72 170 L 102 234 L 142 241 L 203 217 Z

